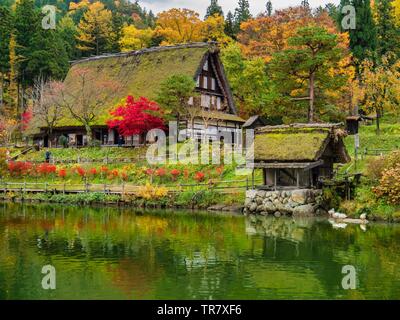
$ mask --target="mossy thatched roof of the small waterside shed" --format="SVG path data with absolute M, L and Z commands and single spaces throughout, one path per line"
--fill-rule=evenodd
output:
M 338 124 L 293 124 L 267 126 L 256 131 L 255 162 L 307 162 L 320 160 L 331 145 L 335 161 L 350 160 Z

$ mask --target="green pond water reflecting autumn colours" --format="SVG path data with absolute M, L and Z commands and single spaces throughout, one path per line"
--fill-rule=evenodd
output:
M 399 298 L 398 225 L 0 204 L 0 299 Z

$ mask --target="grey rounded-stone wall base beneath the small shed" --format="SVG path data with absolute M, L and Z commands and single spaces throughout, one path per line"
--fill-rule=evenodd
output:
M 315 216 L 324 214 L 321 190 L 297 189 L 290 191 L 248 190 L 244 212 L 274 214 L 275 216 Z

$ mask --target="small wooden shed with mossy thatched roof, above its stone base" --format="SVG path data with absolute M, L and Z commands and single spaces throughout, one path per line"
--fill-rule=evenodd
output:
M 319 188 L 333 178 L 335 163 L 350 161 L 346 134 L 341 124 L 263 127 L 255 134 L 251 165 L 263 170 L 264 189 Z

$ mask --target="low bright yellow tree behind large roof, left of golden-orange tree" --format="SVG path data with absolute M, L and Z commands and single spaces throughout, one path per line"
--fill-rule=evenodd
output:
M 148 48 L 151 45 L 154 30 L 138 29 L 133 25 L 122 28 L 122 38 L 120 46 L 122 51 L 139 50 Z

